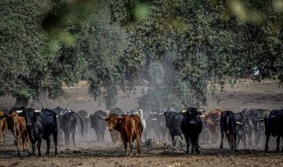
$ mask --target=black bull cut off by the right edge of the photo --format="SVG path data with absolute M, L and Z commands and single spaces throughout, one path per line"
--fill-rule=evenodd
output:
M 268 117 L 256 120 L 257 122 L 265 122 L 265 151 L 268 151 L 268 141 L 270 136 L 276 137 L 276 151 L 280 151 L 280 138 L 283 138 L 283 110 L 272 110 Z M 283 146 L 281 151 L 283 152 Z

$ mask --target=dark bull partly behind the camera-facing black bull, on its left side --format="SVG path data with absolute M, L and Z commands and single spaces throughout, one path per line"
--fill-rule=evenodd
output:
M 175 110 L 176 111 L 176 110 Z M 175 137 L 180 136 L 182 138 L 182 131 L 181 131 L 181 122 L 183 120 L 183 114 L 179 112 L 173 112 L 169 107 L 167 112 L 161 112 L 158 116 L 165 117 L 166 127 L 169 129 L 169 133 L 171 136 L 172 144 L 175 146 Z

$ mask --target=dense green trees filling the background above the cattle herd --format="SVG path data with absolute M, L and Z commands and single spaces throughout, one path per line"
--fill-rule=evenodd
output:
M 87 80 L 108 109 L 141 84 L 144 110 L 205 105 L 215 84 L 283 81 L 282 12 L 282 0 L 1 0 L 0 96 L 44 104 Z

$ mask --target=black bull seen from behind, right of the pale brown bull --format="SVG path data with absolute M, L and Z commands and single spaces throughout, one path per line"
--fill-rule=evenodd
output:
M 224 111 L 221 112 L 220 117 L 220 127 L 221 127 L 221 144 L 220 149 L 223 149 L 223 138 L 224 133 L 228 139 L 230 149 L 236 149 L 237 144 L 237 121 L 234 112 Z

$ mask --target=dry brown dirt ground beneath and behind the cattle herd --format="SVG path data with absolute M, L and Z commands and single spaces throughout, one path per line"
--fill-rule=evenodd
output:
M 141 95 L 141 87 L 135 94 L 125 97 L 120 92 L 118 107 L 129 111 L 137 107 L 137 98 Z M 73 110 L 87 110 L 90 113 L 96 110 L 105 110 L 105 105 L 98 105 L 89 94 L 87 85 L 81 83 L 72 88 L 66 88 L 70 98 L 60 101 L 46 101 L 46 107 L 70 107 Z M 0 99 L 0 108 L 11 108 L 15 100 L 11 97 Z M 34 104 L 36 106 L 36 104 Z M 214 96 L 208 94 L 208 105 L 205 110 L 221 108 L 239 112 L 245 108 L 265 108 L 269 110 L 283 106 L 283 88 L 279 88 L 274 81 L 265 80 L 260 83 L 253 81 L 239 81 L 234 86 L 225 86 L 224 90 Z M 76 137 L 79 138 L 79 137 Z M 16 147 L 12 144 L 11 133 L 7 143 L 0 144 L 0 166 L 283 166 L 283 154 L 274 151 L 265 152 L 265 138 L 257 147 L 231 152 L 228 149 L 219 150 L 219 144 L 200 143 L 200 155 L 185 155 L 185 148 L 164 146 L 163 143 L 154 144 L 152 148 L 144 146 L 142 155 L 136 151 L 132 157 L 125 157 L 122 146 L 113 146 L 109 134 L 105 136 L 106 144 L 95 142 L 93 130 L 87 139 L 77 139 L 77 146 L 67 148 L 64 142 L 59 142 L 59 155 L 53 155 L 54 147 L 51 141 L 51 155 L 45 156 L 45 141 L 43 141 L 42 157 L 27 157 L 22 153 L 16 156 Z M 270 150 L 275 150 L 275 140 L 270 142 Z M 228 148 L 228 144 L 224 144 Z

